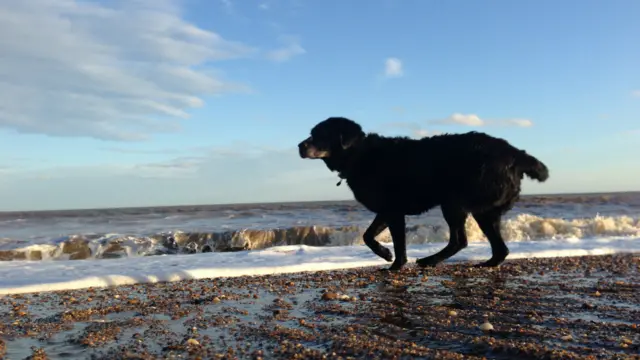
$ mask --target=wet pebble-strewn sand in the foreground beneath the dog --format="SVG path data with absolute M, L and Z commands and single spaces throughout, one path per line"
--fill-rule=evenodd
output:
M 639 267 L 640 254 L 412 264 L 5 296 L 0 354 L 640 359 Z

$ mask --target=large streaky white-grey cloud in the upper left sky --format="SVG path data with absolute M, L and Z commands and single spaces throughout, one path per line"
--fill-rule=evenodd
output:
M 203 95 L 246 91 L 203 69 L 255 49 L 182 18 L 179 1 L 0 2 L 0 127 L 139 140 Z

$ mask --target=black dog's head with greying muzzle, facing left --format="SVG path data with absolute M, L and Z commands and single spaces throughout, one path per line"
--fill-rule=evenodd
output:
M 311 136 L 298 144 L 298 150 L 303 159 L 328 159 L 352 148 L 364 136 L 355 121 L 330 117 L 311 129 Z

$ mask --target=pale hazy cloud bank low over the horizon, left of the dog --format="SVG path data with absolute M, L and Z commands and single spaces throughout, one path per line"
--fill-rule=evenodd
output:
M 352 198 L 347 187 L 335 186 L 336 174 L 300 159 L 295 148 L 209 149 L 156 162 L 0 173 L 0 211 Z

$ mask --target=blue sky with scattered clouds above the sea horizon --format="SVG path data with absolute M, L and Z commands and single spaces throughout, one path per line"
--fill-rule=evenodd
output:
M 470 130 L 640 190 L 637 0 L 0 2 L 0 211 L 352 199 L 330 116 Z M 636 44 L 636 45 L 633 45 Z

